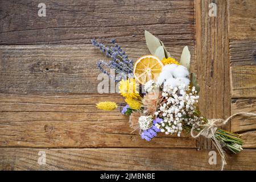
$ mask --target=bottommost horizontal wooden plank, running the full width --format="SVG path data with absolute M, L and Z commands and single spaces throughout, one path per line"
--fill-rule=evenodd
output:
M 46 152 L 46 165 L 38 164 L 38 152 Z M 209 151 L 189 149 L 86 148 L 31 149 L 0 148 L 3 170 L 220 170 L 209 165 Z M 224 170 L 256 170 L 256 151 L 245 150 L 227 157 Z

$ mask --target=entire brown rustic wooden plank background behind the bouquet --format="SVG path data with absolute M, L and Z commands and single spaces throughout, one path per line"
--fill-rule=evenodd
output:
M 255 0 L 51 0 L 46 17 L 34 1 L 0 1 L 0 169 L 220 170 L 209 165 L 212 144 L 160 135 L 151 142 L 131 134 L 118 111 L 96 110 L 101 53 L 90 39 L 115 38 L 128 55 L 148 54 L 143 32 L 158 36 L 179 59 L 184 46 L 201 85 L 208 118 L 256 111 Z M 209 3 L 217 16 L 208 15 Z M 256 118 L 225 127 L 245 139 L 225 169 L 256 169 Z M 38 152 L 46 164 L 38 164 Z

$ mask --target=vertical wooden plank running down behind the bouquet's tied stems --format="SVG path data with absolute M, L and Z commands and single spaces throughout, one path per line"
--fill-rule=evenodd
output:
M 230 115 L 228 10 L 226 1 L 217 4 L 217 16 L 209 16 L 210 0 L 196 0 L 196 72 L 200 84 L 200 110 L 207 118 Z M 229 125 L 225 126 L 229 130 Z M 211 148 L 201 138 L 199 147 Z

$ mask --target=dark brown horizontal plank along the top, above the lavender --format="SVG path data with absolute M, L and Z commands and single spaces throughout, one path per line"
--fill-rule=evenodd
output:
M 167 45 L 193 45 L 193 0 L 183 1 L 44 1 L 46 17 L 38 16 L 41 1 L 1 1 L 0 44 L 88 44 L 118 38 L 144 42 L 154 32 Z

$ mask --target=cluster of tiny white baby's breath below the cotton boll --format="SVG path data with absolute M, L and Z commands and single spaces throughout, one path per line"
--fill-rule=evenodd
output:
M 158 115 L 163 117 L 163 122 L 157 125 L 160 132 L 165 134 L 181 135 L 183 130 L 183 122 L 193 127 L 198 127 L 201 123 L 201 118 L 197 118 L 194 114 L 196 110 L 195 103 L 198 102 L 199 96 L 195 93 L 195 88 L 189 89 L 185 84 L 172 88 L 166 86 L 168 92 L 163 92 L 162 95 L 167 98 L 162 106 L 159 107 Z M 185 116 L 189 117 L 187 119 Z

